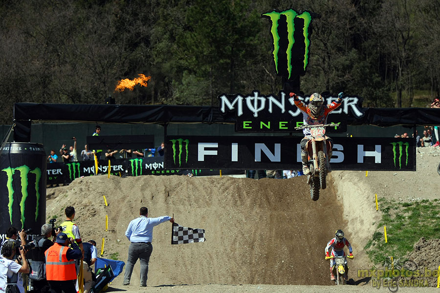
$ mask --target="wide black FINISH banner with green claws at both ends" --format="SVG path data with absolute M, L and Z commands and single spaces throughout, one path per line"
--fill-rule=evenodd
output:
M 301 168 L 302 137 L 168 136 L 168 168 L 284 169 Z M 334 138 L 333 170 L 415 171 L 413 139 Z

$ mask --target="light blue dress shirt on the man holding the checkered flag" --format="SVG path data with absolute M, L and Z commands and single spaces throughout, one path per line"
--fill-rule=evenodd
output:
M 171 219 L 170 216 L 162 216 L 157 218 L 147 218 L 146 216 L 140 216 L 132 220 L 125 231 L 125 236 L 131 242 L 152 242 L 153 240 L 153 227 L 164 223 Z

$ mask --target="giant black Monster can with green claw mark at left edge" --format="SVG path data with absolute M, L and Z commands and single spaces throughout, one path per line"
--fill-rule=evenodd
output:
M 40 235 L 46 217 L 46 155 L 43 145 L 6 143 L 0 156 L 0 235 L 9 227 Z

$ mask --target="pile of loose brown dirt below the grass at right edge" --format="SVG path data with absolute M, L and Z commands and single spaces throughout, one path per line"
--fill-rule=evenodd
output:
M 440 264 L 440 239 L 426 240 L 424 237 L 420 238 L 414 244 L 414 250 L 406 255 L 407 259 L 414 261 L 420 273 L 423 273 L 428 279 L 430 287 L 437 287 L 437 275 L 430 277 L 432 272 L 439 269 Z

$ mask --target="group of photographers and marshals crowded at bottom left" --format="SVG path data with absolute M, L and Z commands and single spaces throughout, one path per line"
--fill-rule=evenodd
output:
M 82 243 L 73 223 L 75 209 L 67 207 L 65 212 L 66 221 L 60 228 L 44 224 L 41 235 L 29 243 L 26 231 L 7 230 L 0 248 L 0 292 L 77 293 L 80 283 L 84 293 L 91 291 L 95 278 L 90 266 L 97 260 L 96 242 Z M 84 282 L 78 282 L 81 275 Z

